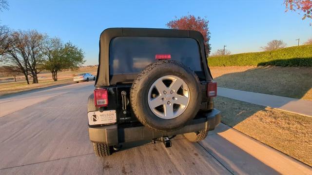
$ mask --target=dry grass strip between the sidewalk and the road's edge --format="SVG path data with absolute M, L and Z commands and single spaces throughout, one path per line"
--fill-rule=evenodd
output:
M 215 98 L 222 123 L 312 166 L 312 117 L 226 97 Z

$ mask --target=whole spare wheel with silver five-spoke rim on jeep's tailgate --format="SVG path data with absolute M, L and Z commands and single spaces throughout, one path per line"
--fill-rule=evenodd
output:
M 138 120 L 158 132 L 175 131 L 193 119 L 201 102 L 194 71 L 175 60 L 148 65 L 131 88 L 131 106 Z

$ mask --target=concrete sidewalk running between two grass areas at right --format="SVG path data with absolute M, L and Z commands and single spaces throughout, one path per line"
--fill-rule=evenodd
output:
M 312 117 L 312 101 L 218 87 L 218 96 Z

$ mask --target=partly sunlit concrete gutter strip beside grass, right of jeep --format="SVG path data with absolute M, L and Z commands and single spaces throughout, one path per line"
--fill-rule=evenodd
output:
M 223 123 L 199 144 L 234 175 L 312 174 L 312 167 Z

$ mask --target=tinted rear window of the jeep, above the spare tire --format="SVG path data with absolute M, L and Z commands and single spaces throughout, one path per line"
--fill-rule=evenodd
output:
M 156 56 L 157 55 L 157 56 Z M 199 45 L 191 38 L 117 37 L 109 48 L 110 75 L 137 74 L 156 57 L 170 57 L 201 72 Z

